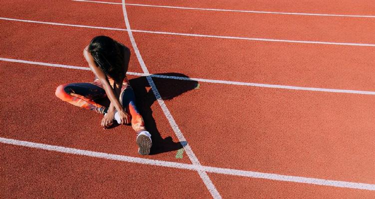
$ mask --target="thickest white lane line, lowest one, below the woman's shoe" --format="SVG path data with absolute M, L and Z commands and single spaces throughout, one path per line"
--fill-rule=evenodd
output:
M 75 148 L 69 148 L 69 147 L 55 146 L 55 145 L 49 145 L 49 144 L 21 141 L 21 140 L 15 140 L 15 139 L 3 138 L 3 137 L 0 137 L 0 143 L 29 147 L 29 148 L 36 148 L 36 149 L 41 149 L 41 150 L 55 151 L 55 152 L 60 152 L 60 153 L 102 158 L 102 159 L 107 159 L 107 160 L 116 160 L 116 161 L 121 161 L 121 162 L 137 163 L 137 164 L 160 166 L 160 167 L 169 167 L 169 168 L 176 168 L 176 169 L 183 169 L 183 170 L 193 170 L 197 172 L 209 172 L 209 173 L 232 175 L 232 176 L 243 176 L 247 178 L 258 178 L 258 179 L 267 179 L 267 180 L 275 180 L 275 181 L 375 191 L 375 185 L 373 184 L 353 183 L 353 182 L 346 182 L 346 181 L 335 181 L 335 180 L 326 180 L 326 179 L 317 179 L 317 178 L 306 178 L 306 177 L 299 177 L 299 176 L 287 176 L 287 175 L 279 175 L 279 174 L 272 174 L 272 173 L 261 173 L 261 172 L 244 171 L 244 170 L 237 170 L 237 169 L 226 169 L 226 168 L 219 168 L 219 167 L 209 167 L 209 166 L 202 166 L 202 165 L 168 162 L 168 161 L 162 161 L 162 160 L 138 158 L 138 157 L 124 156 L 124 155 L 116 155 L 116 154 L 88 151 L 88 150 L 82 150 L 82 149 L 75 149 Z

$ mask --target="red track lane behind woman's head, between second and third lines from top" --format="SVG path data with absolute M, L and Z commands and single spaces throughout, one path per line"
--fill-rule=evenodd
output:
M 130 41 L 122 31 L 3 20 L 0 20 L 0 24 L 9 27 L 9 32 L 14 33 L 0 30 L 1 34 L 7 35 L 0 41 L 1 55 L 5 58 L 87 66 L 81 46 L 87 45 L 95 35 L 110 34 L 130 46 Z M 151 73 L 180 72 L 194 78 L 375 90 L 375 55 L 371 51 L 372 47 L 318 45 L 312 48 L 311 44 L 264 43 L 145 33 L 134 35 Z M 178 42 L 169 43 L 171 40 Z M 74 43 L 77 45 L 71 45 Z M 28 46 L 27 51 L 24 49 L 25 44 Z M 210 54 L 216 56 L 207 56 Z M 133 51 L 132 55 L 135 55 Z M 174 59 L 175 57 L 178 59 Z M 363 57 L 367 59 L 363 60 Z M 131 56 L 129 71 L 142 72 L 136 56 Z

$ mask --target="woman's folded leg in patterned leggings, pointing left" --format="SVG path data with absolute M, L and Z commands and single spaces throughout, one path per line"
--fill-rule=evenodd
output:
M 96 103 L 94 100 L 106 97 L 103 88 L 92 83 L 72 83 L 57 87 L 55 95 L 57 98 L 73 105 L 103 113 L 106 107 Z

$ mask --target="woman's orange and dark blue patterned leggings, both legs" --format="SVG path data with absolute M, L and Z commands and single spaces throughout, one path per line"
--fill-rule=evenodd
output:
M 113 85 L 113 80 L 110 80 L 110 83 Z M 63 101 L 85 109 L 94 110 L 98 113 L 103 114 L 107 109 L 107 107 L 104 107 L 94 101 L 107 97 L 105 90 L 98 79 L 95 79 L 91 83 L 72 83 L 60 85 L 57 87 L 55 94 Z M 133 89 L 129 85 L 127 78 L 125 78 L 124 82 L 122 83 L 119 101 L 131 117 L 131 126 L 133 129 L 136 132 L 145 130 L 143 118 L 135 106 Z

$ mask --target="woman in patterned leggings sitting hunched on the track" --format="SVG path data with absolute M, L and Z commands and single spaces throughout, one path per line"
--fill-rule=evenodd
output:
M 135 106 L 133 89 L 126 78 L 129 48 L 110 37 L 96 36 L 83 50 L 83 55 L 95 80 L 91 83 L 60 85 L 56 89 L 56 96 L 73 105 L 103 114 L 103 129 L 110 127 L 116 120 L 120 124 L 131 123 L 137 132 L 138 153 L 148 155 L 152 145 L 151 134 L 146 131 L 143 118 Z M 110 100 L 109 107 L 94 101 L 106 97 Z

